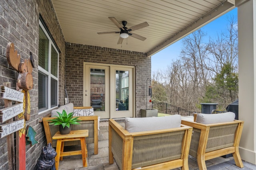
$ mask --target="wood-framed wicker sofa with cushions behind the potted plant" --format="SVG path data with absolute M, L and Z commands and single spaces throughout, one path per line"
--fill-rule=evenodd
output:
M 52 116 L 56 115 L 56 111 L 62 113 L 62 109 L 65 109 L 67 113 L 73 112 L 73 116 L 79 117 L 80 125 L 70 125 L 71 130 L 88 129 L 88 137 L 86 137 L 86 144 L 94 143 L 94 154 L 98 154 L 98 123 L 99 117 L 94 116 L 92 107 L 74 107 L 73 104 L 60 106 L 58 109 L 52 111 Z M 72 111 L 71 111 L 72 110 Z M 82 116 L 81 116 L 82 115 Z M 52 140 L 54 134 L 59 131 L 58 126 L 50 125 L 50 119 L 55 117 L 43 117 L 44 131 L 46 135 L 47 143 L 52 143 L 52 147 L 56 147 L 56 140 Z M 67 141 L 64 146 L 80 145 L 80 141 Z

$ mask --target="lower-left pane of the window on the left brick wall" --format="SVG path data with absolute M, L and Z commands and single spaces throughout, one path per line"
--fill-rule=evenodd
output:
M 48 78 L 38 71 L 38 110 L 43 111 L 48 108 Z

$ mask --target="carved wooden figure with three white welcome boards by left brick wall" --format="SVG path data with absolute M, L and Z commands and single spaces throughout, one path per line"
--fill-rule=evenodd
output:
M 9 169 L 26 170 L 26 120 L 30 119 L 30 95 L 28 90 L 33 88 L 32 69 L 34 59 L 20 60 L 20 55 L 14 49 L 13 43 L 8 43 L 6 59 L 14 70 L 19 72 L 16 90 L 10 88 L 10 82 L 1 86 L 0 98 L 4 99 L 4 109 L 0 110 L 0 138 L 7 137 Z M 12 101 L 16 104 L 12 106 Z M 15 117 L 15 121 L 13 121 Z M 14 135 L 16 134 L 16 168 L 14 156 Z

